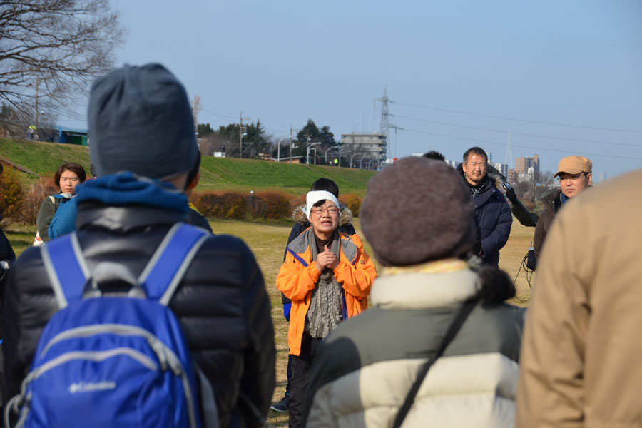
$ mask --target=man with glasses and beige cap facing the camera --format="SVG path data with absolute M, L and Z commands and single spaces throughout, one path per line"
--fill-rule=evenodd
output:
M 544 211 L 537 220 L 533 238 L 536 259 L 539 258 L 546 233 L 549 232 L 551 223 L 561 206 L 591 185 L 592 167 L 591 160 L 584 156 L 566 156 L 559 161 L 557 172 L 553 176 L 559 180 L 560 188 L 541 200 L 544 203 Z

